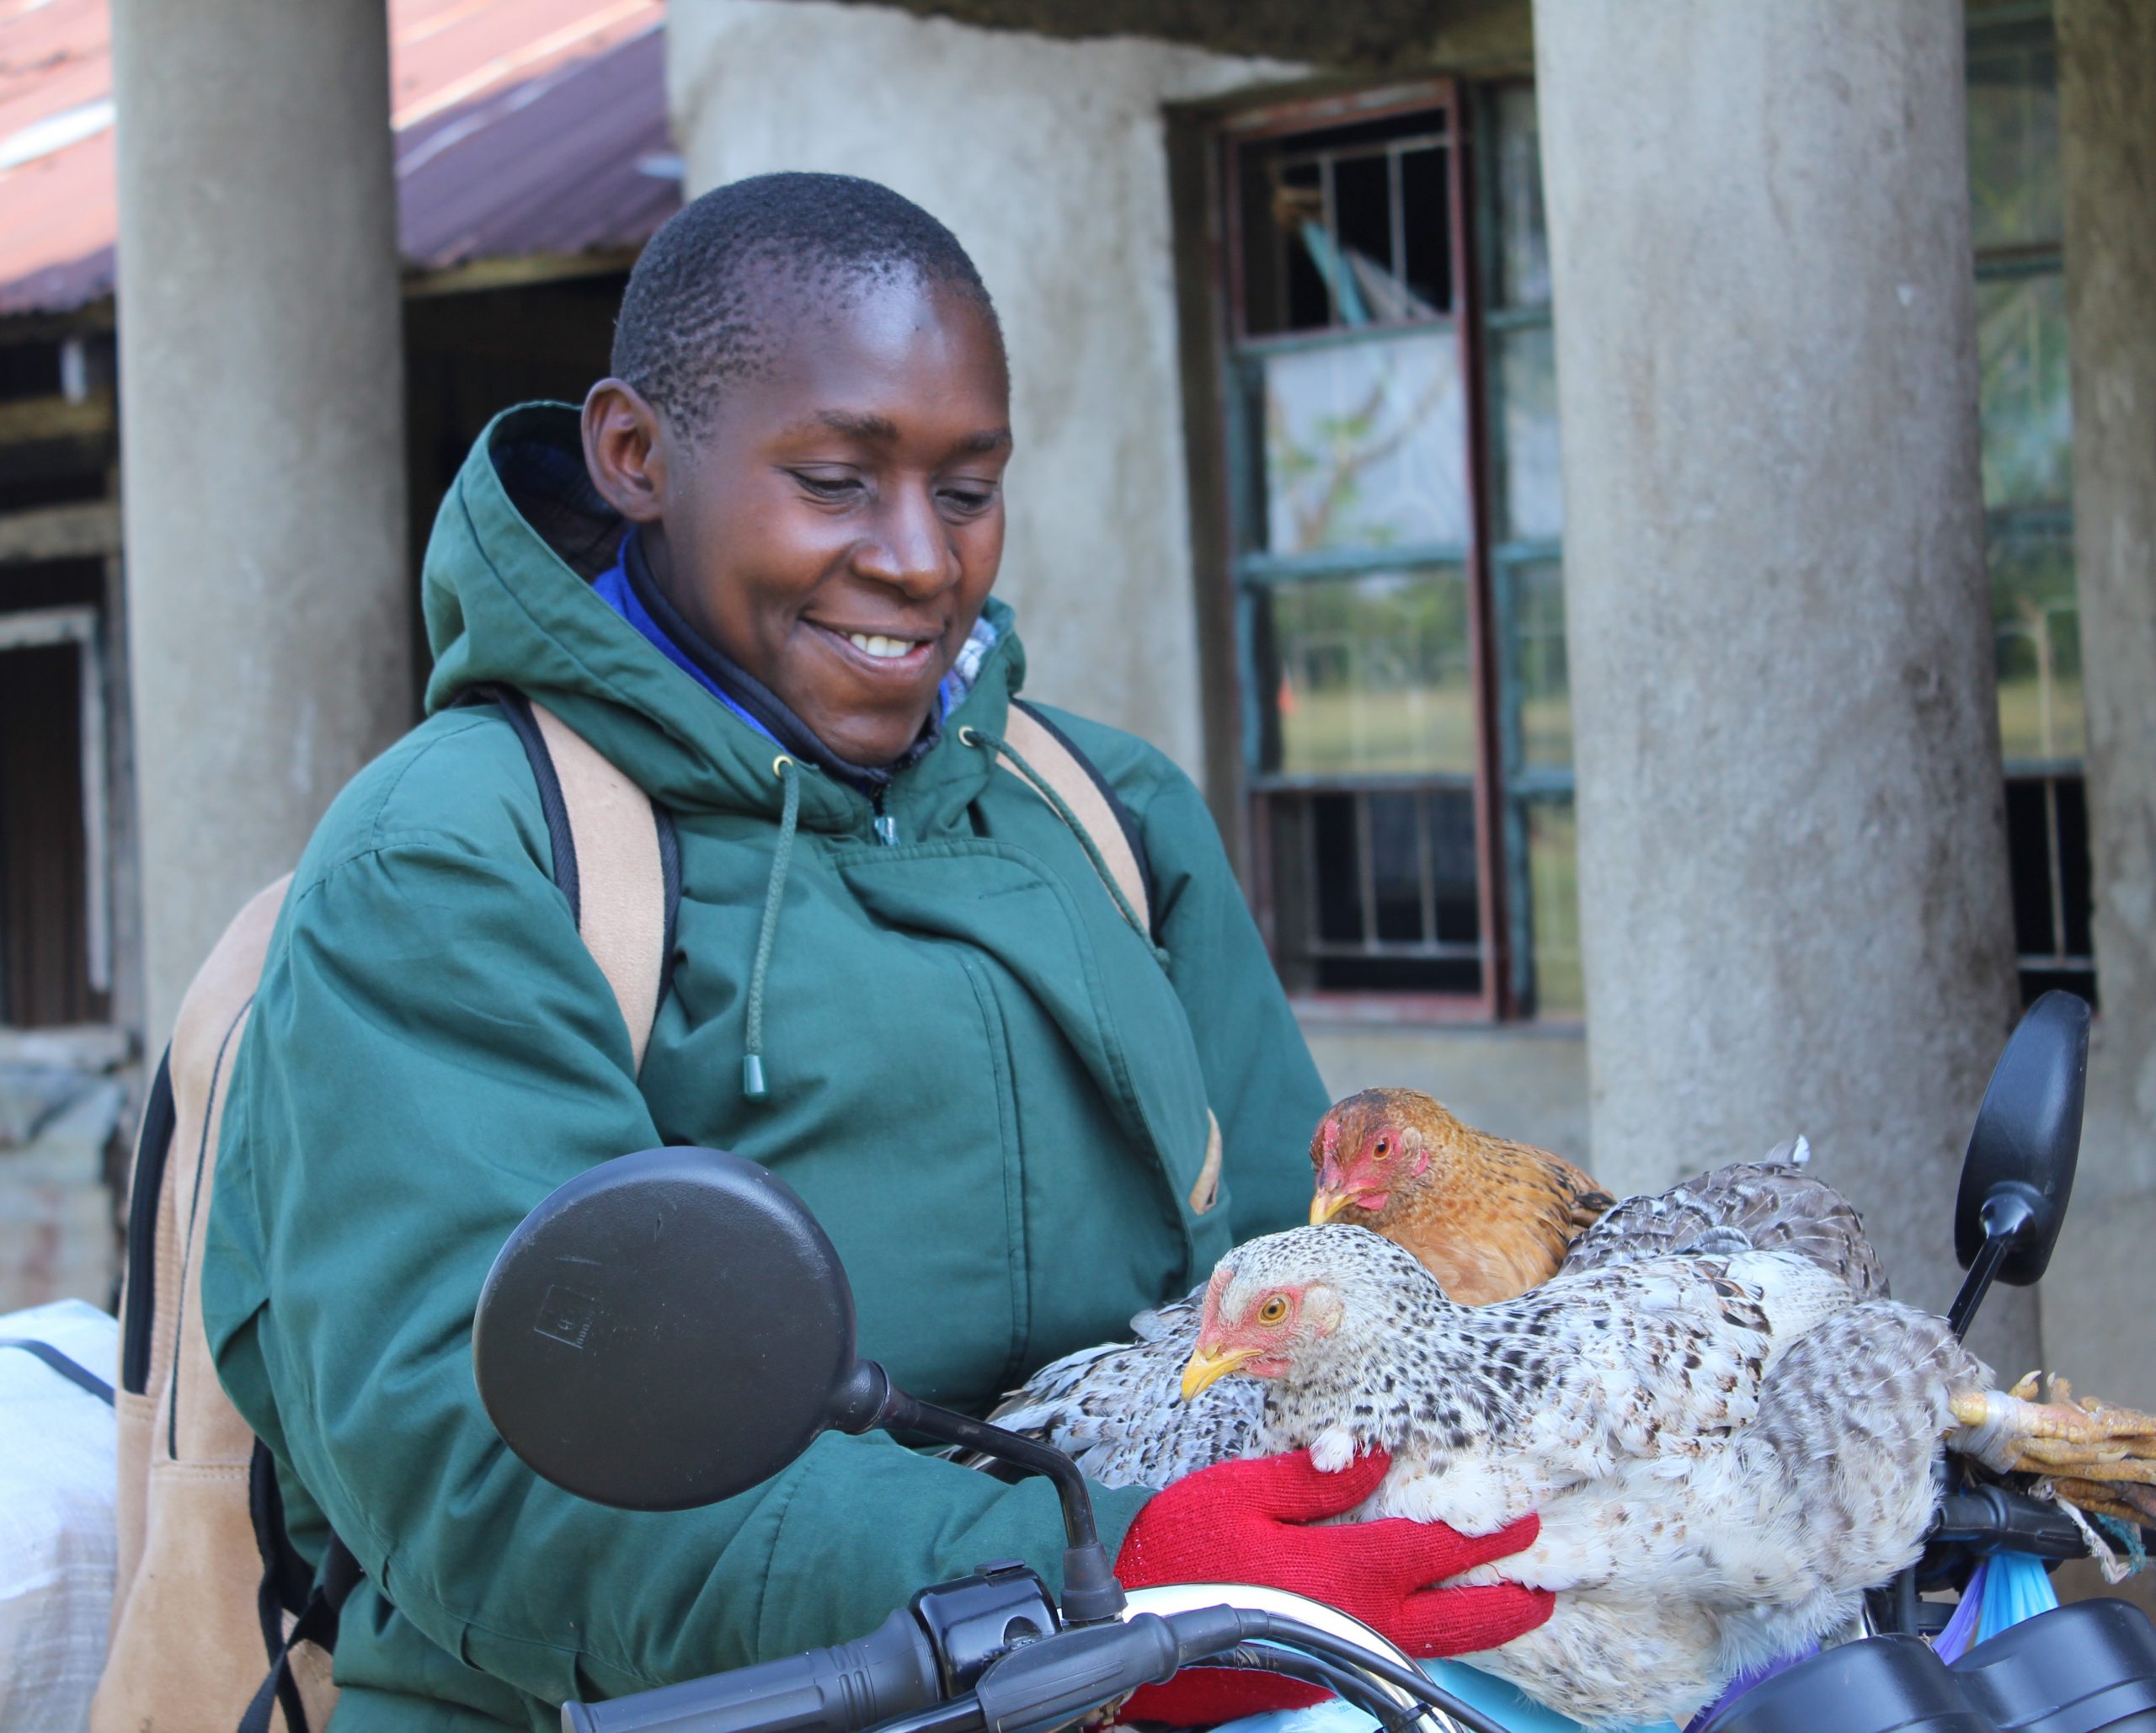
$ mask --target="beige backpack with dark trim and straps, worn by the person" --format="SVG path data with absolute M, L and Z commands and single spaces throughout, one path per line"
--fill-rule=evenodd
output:
M 681 901 L 673 819 L 543 705 L 498 688 L 472 698 L 500 705 L 524 744 L 554 884 L 614 989 L 640 1069 Z M 1087 828 L 1104 879 L 1151 929 L 1145 847 L 1106 778 L 1026 705 L 1011 705 L 1005 737 Z M 291 1545 L 276 1464 L 218 1384 L 198 1291 L 226 1084 L 289 886 L 287 873 L 259 890 L 211 948 L 142 1110 L 114 1397 L 119 1561 L 91 1733 L 310 1733 L 336 1703 L 330 1651 L 358 1561 L 334 1535 L 319 1567 Z

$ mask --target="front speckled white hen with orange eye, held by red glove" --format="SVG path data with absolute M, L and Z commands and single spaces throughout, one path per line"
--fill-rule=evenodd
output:
M 1184 1388 L 1231 1375 L 1263 1388 L 1259 1453 L 1393 1453 L 1358 1520 L 1485 1535 L 1539 1511 L 1533 1548 L 1468 1580 L 1557 1589 L 1557 1612 L 1473 1660 L 1589 1724 L 1684 1720 L 1848 1621 L 1915 1558 L 1955 1399 L 1981 1412 L 1990 1384 L 1940 1319 L 1856 1302 L 1789 1250 L 1641 1259 L 1468 1308 L 1339 1226 L 1220 1261 Z

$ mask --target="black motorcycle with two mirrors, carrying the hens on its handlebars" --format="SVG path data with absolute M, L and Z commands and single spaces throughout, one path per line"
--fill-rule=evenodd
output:
M 1955 1332 L 1992 1283 L 2033 1283 L 2050 1261 L 2078 1155 L 2087 1026 L 2081 1000 L 2046 994 L 1992 1073 L 1955 1207 L 1968 1272 Z M 565 1733 L 1059 1733 L 1199 1664 L 1322 1686 L 1386 1733 L 1511 1733 L 1322 1602 L 1218 1582 L 1125 1593 L 1076 1464 L 918 1401 L 860 1358 L 824 1229 L 737 1155 L 651 1149 L 558 1188 L 496 1259 L 472 1354 L 487 1416 L 517 1457 L 602 1505 L 718 1502 L 824 1431 L 871 1429 L 977 1451 L 1046 1476 L 1061 1498 L 1061 1602 L 1024 1565 L 983 1565 L 854 1642 L 567 1703 Z M 681 1377 L 686 1364 L 696 1377 Z M 2063 1606 L 1940 1660 L 1921 1591 L 1966 1582 L 1996 1552 L 2065 1558 L 2087 1543 L 2057 1505 L 1947 1485 L 1923 1561 L 1871 1597 L 1865 1634 L 1738 1696 L 1708 1733 L 2156 1733 L 2156 1625 L 2124 1602 Z

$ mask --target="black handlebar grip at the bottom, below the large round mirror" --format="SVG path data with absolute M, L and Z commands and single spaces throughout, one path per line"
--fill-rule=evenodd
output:
M 563 1703 L 563 1733 L 860 1733 L 940 1696 L 936 1651 L 906 1608 L 856 1642 L 709 1679 Z

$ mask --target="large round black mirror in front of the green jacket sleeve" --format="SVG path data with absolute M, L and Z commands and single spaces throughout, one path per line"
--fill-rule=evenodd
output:
M 793 1190 L 718 1149 L 571 1179 L 502 1246 L 472 1369 L 487 1418 L 558 1487 L 683 1511 L 768 1481 L 843 1408 L 854 1291 Z

